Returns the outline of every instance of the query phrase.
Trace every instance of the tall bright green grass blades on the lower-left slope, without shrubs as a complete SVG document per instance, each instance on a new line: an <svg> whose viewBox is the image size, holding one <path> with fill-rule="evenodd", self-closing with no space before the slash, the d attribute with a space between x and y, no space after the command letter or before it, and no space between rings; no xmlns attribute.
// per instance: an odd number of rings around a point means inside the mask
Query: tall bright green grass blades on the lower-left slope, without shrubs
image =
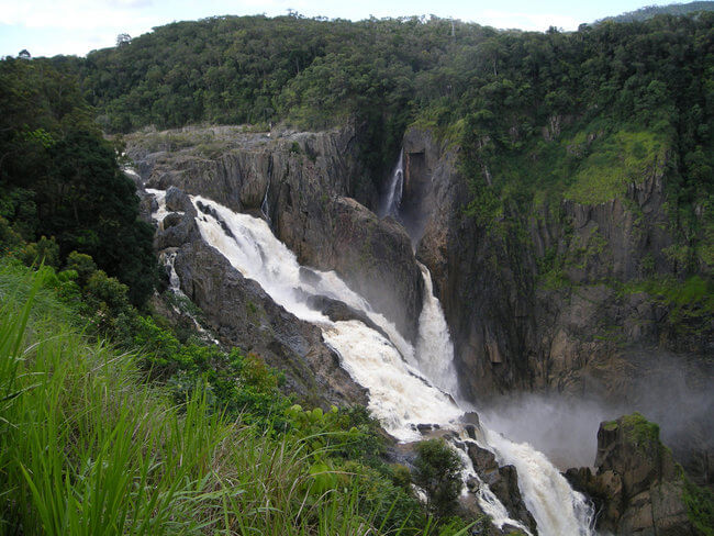
<svg viewBox="0 0 714 536"><path fill-rule="evenodd" d="M227 422L200 389L175 406L68 316L0 265L1 534L379 534L357 479L314 485L309 438Z"/></svg>

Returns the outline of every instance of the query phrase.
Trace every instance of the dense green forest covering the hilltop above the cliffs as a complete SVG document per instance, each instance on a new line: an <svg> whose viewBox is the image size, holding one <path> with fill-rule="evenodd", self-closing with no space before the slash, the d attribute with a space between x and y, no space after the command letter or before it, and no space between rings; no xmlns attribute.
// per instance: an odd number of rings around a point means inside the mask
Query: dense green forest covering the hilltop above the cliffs
<svg viewBox="0 0 714 536"><path fill-rule="evenodd" d="M405 127L431 127L461 148L481 222L548 200L623 197L665 161L670 253L685 276L714 264L713 21L701 12L537 33L438 18L220 16L32 64L76 78L110 133L354 120L378 188Z"/></svg>

